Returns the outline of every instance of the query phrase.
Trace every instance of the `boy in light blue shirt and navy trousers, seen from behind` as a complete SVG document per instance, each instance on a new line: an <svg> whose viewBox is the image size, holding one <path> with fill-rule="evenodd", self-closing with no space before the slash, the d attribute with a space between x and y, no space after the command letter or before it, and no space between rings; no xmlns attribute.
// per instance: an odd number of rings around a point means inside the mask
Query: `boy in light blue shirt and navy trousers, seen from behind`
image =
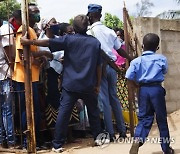
<svg viewBox="0 0 180 154"><path fill-rule="evenodd" d="M138 154L139 147L143 145L153 124L154 115L160 132L161 147L164 154L173 154L169 146L170 136L167 124L167 111L165 102L165 89L161 86L164 75L167 73L167 59L156 54L159 37L148 33L143 38L142 56L131 61L126 72L126 78L140 85L139 89L139 123L135 130L135 140L130 154Z"/></svg>

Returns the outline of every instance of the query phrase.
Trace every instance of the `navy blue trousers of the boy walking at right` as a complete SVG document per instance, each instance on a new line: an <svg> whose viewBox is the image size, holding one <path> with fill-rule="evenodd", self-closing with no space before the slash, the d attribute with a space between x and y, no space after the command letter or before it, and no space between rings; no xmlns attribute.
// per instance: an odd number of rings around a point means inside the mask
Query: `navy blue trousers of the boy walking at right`
<svg viewBox="0 0 180 154"><path fill-rule="evenodd" d="M169 148L169 129L165 102L165 89L161 85L141 86L139 92L139 123L135 130L135 138L143 143L153 124L154 115L160 132L163 152Z"/></svg>

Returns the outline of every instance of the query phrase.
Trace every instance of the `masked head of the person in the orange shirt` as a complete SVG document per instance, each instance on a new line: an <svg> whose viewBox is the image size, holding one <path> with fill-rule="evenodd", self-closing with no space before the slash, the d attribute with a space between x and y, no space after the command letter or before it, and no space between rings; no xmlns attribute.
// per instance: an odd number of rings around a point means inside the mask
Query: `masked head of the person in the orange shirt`
<svg viewBox="0 0 180 154"><path fill-rule="evenodd" d="M33 27L35 23L38 23L40 21L40 11L36 4L30 3L28 4L29 8L29 25L30 27Z"/></svg>

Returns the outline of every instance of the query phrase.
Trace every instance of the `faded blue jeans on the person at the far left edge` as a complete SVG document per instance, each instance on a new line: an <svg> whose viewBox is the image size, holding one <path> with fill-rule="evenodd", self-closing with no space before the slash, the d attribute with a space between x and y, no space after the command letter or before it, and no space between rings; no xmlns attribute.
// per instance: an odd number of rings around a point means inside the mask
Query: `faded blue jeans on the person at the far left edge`
<svg viewBox="0 0 180 154"><path fill-rule="evenodd" d="M0 144L15 143L13 122L13 93L10 91L10 80L0 81Z"/></svg>

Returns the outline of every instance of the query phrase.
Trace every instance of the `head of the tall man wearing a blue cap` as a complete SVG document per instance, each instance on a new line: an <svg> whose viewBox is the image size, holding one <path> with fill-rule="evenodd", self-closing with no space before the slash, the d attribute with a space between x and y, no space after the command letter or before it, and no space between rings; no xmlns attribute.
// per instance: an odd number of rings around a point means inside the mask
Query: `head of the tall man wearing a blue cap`
<svg viewBox="0 0 180 154"><path fill-rule="evenodd" d="M88 5L88 13L89 23L92 25L94 22L100 21L102 14L102 6L98 4L89 4Z"/></svg>

